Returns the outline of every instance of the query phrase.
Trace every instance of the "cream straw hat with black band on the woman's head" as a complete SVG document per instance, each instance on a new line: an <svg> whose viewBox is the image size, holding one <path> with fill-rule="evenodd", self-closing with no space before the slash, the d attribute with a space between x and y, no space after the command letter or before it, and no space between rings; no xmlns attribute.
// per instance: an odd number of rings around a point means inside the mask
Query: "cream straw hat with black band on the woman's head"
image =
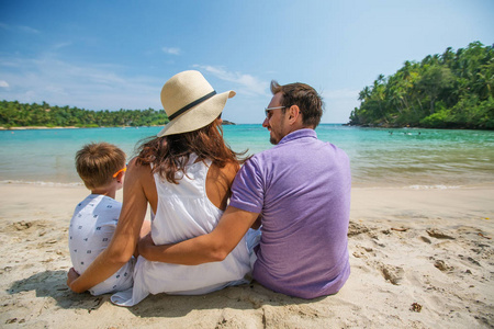
<svg viewBox="0 0 494 329"><path fill-rule="evenodd" d="M161 104L170 122L158 137L193 132L212 123L235 91L216 93L199 71L183 71L161 89Z"/></svg>

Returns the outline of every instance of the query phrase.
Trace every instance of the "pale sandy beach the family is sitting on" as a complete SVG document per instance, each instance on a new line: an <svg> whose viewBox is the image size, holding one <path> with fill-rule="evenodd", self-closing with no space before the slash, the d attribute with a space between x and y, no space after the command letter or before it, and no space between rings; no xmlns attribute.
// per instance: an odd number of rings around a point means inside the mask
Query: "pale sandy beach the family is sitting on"
<svg viewBox="0 0 494 329"><path fill-rule="evenodd" d="M252 282L150 296L132 308L65 284L68 224L87 194L83 186L0 184L0 327L494 327L494 184L352 189L351 275L336 295L305 300Z"/></svg>

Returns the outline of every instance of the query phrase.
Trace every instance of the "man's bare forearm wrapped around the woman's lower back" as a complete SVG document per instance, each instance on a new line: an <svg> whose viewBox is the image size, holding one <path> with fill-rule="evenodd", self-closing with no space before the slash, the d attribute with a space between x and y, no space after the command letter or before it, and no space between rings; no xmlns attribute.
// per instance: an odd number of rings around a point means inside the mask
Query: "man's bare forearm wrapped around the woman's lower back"
<svg viewBox="0 0 494 329"><path fill-rule="evenodd" d="M214 230L175 245L155 246L143 239L139 253L149 261L198 265L224 260L238 245L259 214L228 206Z"/></svg>

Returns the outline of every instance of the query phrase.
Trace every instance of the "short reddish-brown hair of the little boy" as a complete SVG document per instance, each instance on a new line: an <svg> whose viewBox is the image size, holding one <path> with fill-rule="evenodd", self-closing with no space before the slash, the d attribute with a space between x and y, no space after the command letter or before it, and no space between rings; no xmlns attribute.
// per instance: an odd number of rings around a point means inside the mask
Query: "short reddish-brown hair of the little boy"
<svg viewBox="0 0 494 329"><path fill-rule="evenodd" d="M76 169L89 190L111 183L125 167L125 152L110 143L90 143L76 154Z"/></svg>

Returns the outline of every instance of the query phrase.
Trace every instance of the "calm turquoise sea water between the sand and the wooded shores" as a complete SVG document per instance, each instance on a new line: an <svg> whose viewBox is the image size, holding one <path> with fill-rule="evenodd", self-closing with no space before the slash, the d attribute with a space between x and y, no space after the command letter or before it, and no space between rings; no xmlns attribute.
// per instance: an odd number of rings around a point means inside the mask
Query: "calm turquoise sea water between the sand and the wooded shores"
<svg viewBox="0 0 494 329"><path fill-rule="evenodd" d="M269 132L260 124L224 126L235 151L266 150ZM139 140L160 127L0 131L0 182L81 184L76 151L90 141L121 147L128 159ZM454 189L494 183L494 132L363 128L322 124L319 139L344 149L353 186Z"/></svg>

